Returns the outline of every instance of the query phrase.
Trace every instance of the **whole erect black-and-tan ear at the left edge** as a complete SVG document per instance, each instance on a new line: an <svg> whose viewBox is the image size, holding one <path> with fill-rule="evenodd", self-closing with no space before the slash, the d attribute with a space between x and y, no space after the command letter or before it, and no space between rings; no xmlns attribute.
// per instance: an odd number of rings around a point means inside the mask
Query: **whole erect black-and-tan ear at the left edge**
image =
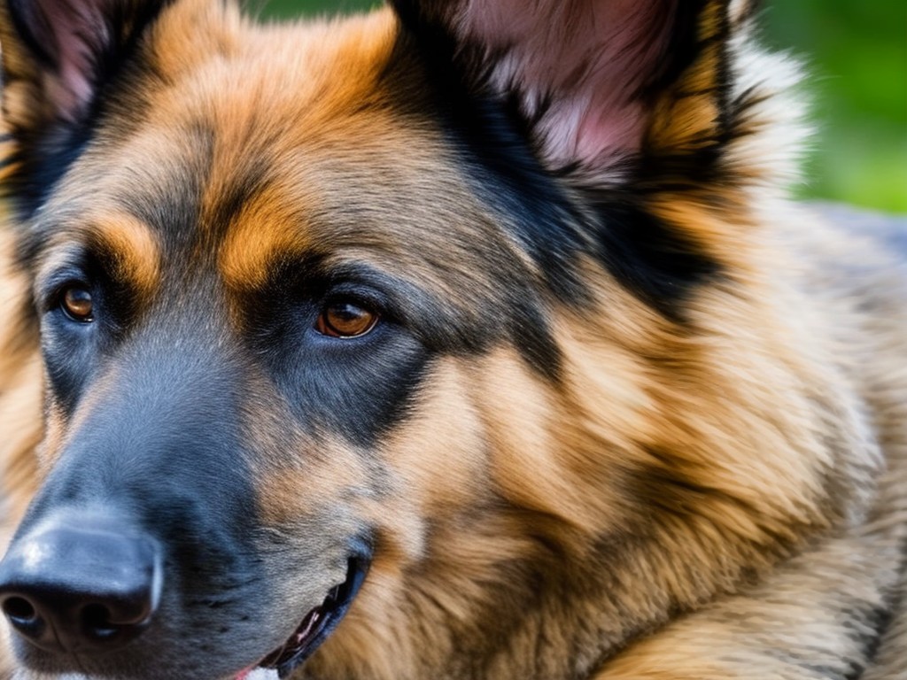
<svg viewBox="0 0 907 680"><path fill-rule="evenodd" d="M30 166L62 172L104 88L169 0L2 0L3 121L15 144L15 190ZM55 169L55 170L54 170ZM45 178L46 179L46 178Z"/></svg>

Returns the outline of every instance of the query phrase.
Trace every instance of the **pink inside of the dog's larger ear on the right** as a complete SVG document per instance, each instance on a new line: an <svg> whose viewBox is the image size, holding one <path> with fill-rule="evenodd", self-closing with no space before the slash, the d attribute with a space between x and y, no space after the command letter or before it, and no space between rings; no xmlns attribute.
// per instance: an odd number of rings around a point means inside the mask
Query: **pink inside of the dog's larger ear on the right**
<svg viewBox="0 0 907 680"><path fill-rule="evenodd" d="M678 0L466 0L456 30L478 40L493 87L520 94L554 166L586 167L639 150L636 97L658 70ZM547 108L545 108L547 107Z"/></svg>

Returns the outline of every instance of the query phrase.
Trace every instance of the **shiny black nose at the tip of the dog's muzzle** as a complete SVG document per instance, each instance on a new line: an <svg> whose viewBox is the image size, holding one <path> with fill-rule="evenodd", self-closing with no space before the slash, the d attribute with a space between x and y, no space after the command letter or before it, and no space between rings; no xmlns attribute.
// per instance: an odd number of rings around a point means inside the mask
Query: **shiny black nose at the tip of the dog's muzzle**
<svg viewBox="0 0 907 680"><path fill-rule="evenodd" d="M0 563L0 608L50 652L102 651L151 622L161 594L157 543L110 522L48 522Z"/></svg>

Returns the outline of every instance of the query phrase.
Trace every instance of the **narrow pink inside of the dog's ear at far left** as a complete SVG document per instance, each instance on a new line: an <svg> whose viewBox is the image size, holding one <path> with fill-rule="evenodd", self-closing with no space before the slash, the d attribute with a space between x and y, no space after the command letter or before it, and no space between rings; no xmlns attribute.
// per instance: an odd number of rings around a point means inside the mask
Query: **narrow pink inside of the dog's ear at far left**
<svg viewBox="0 0 907 680"><path fill-rule="evenodd" d="M95 60L112 40L103 5L105 0L39 0L47 33L36 36L52 42L58 62L57 73L48 73L44 85L63 120L78 120L92 101Z"/></svg>

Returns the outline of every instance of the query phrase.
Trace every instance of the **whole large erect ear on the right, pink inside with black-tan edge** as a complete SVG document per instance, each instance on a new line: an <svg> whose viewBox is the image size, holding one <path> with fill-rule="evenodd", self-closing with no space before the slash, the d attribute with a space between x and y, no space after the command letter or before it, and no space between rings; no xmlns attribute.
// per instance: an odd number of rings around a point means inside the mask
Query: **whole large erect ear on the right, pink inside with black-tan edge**
<svg viewBox="0 0 907 680"><path fill-rule="evenodd" d="M701 147L722 133L727 52L754 9L753 0L394 5L473 92L512 105L547 167L597 173L666 145Z"/></svg>

